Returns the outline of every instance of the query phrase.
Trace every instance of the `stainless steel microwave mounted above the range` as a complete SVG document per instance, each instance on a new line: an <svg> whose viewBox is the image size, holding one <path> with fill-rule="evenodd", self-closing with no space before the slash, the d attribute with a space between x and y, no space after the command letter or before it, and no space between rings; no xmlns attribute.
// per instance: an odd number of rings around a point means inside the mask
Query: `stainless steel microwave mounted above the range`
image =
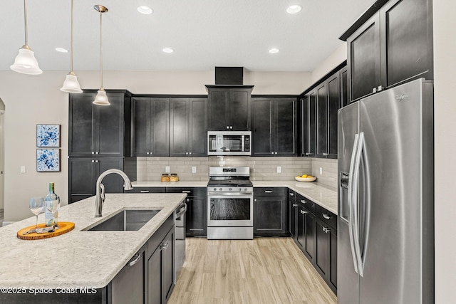
<svg viewBox="0 0 456 304"><path fill-rule="evenodd" d="M207 155L251 155L251 131L208 131Z"/></svg>

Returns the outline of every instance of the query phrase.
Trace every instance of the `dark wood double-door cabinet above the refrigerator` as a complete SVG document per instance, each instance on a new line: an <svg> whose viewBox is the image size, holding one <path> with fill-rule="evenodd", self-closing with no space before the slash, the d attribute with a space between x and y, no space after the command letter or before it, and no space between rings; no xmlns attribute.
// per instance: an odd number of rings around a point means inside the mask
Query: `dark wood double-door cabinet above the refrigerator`
<svg viewBox="0 0 456 304"><path fill-rule="evenodd" d="M415 78L433 79L432 0L377 0L341 40L348 46L352 101Z"/></svg>

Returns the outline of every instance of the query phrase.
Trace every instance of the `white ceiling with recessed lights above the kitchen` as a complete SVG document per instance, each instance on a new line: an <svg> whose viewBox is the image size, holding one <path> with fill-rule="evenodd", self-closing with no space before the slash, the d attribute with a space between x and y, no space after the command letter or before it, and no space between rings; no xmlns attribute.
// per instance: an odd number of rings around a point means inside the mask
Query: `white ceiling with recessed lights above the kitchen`
<svg viewBox="0 0 456 304"><path fill-rule="evenodd" d="M0 0L0 70L24 45L24 2ZM74 0L74 70L311 71L341 46L338 37L373 0ZM298 14L287 14L300 4ZM140 5L154 13L142 15ZM40 68L69 70L71 0L28 0L28 45ZM163 53L173 48L174 53ZM269 48L279 48L276 54Z"/></svg>

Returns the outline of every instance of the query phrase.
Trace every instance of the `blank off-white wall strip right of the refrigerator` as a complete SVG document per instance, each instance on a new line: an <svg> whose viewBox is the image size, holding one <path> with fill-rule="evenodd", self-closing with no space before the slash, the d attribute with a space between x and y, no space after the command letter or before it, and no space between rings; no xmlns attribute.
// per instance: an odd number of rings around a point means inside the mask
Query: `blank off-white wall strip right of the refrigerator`
<svg viewBox="0 0 456 304"><path fill-rule="evenodd" d="M456 2L433 0L435 68L435 303L456 286ZM451 300L453 299L453 300Z"/></svg>

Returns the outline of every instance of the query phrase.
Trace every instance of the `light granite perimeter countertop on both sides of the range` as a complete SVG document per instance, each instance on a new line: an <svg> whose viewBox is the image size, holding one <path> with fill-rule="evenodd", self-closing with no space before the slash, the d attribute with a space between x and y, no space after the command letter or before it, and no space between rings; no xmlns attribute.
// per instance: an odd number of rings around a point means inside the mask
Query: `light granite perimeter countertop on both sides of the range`
<svg viewBox="0 0 456 304"><path fill-rule="evenodd" d="M254 187L288 187L337 215L337 190L318 182L252 181ZM133 182L133 187L207 187L207 182Z"/></svg>

